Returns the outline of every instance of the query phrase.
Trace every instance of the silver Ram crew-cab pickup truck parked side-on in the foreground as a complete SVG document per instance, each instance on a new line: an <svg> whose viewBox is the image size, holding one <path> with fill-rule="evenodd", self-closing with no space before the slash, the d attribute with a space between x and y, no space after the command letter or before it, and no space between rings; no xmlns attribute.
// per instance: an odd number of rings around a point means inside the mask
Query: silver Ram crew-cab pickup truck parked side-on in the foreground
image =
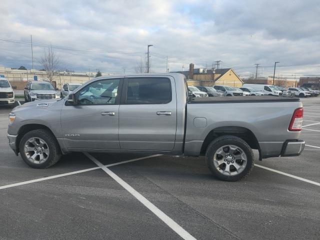
<svg viewBox="0 0 320 240"><path fill-rule="evenodd" d="M73 151L205 156L214 176L238 180L259 160L295 156L299 98L195 97L179 73L101 76L61 99L28 102L9 114L9 145L31 167Z"/></svg>

